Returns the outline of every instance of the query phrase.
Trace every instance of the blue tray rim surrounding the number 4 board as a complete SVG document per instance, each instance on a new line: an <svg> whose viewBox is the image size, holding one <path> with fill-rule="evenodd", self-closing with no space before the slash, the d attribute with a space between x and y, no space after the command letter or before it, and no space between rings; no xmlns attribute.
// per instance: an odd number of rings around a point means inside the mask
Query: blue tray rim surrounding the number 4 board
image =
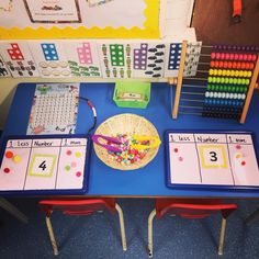
<svg viewBox="0 0 259 259"><path fill-rule="evenodd" d="M4 136L1 139L1 149L0 149L0 166L3 160L3 155L5 151L5 146L9 139L45 139L45 138L87 138L87 147L86 147L86 160L85 160L85 172L83 172L83 182L82 189L59 189L59 190L19 190L19 191L0 191L0 195L59 195L59 194L67 194L67 195L76 195L76 194L83 194L88 192L89 185L89 174L90 174L90 161L91 161L91 153L92 153L92 140L90 136L86 134L71 134L71 135L12 135L12 136Z"/></svg>

